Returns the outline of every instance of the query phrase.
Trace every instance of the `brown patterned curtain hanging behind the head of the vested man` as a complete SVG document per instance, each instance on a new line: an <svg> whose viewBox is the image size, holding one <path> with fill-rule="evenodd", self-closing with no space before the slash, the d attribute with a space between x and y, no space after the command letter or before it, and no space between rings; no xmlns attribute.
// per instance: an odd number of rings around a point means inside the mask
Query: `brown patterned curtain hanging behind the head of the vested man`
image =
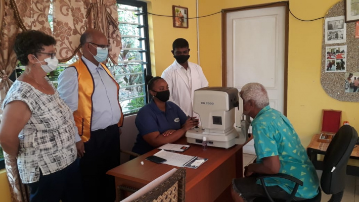
<svg viewBox="0 0 359 202"><path fill-rule="evenodd" d="M117 64L121 52L116 0L54 0L54 37L60 62L81 56L80 36L93 28L104 33L111 44L109 58Z"/></svg>

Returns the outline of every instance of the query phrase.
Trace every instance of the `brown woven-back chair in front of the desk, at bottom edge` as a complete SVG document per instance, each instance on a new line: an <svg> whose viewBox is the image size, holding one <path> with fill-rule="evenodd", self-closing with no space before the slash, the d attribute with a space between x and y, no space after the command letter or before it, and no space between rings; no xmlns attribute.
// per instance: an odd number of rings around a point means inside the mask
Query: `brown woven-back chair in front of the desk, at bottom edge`
<svg viewBox="0 0 359 202"><path fill-rule="evenodd" d="M150 185L150 184L148 184ZM146 186L148 186L146 185ZM143 187L143 188L146 188ZM179 168L172 175L170 175L163 182L160 182L158 185L152 184L155 188L146 192L144 195L136 199L130 199L125 201L131 202L157 202L157 201L185 201L185 192L186 192L186 169ZM122 201L124 197L124 192L136 192L137 189L127 187L127 186L118 186L117 193L119 199ZM141 190L140 190L141 191Z"/></svg>

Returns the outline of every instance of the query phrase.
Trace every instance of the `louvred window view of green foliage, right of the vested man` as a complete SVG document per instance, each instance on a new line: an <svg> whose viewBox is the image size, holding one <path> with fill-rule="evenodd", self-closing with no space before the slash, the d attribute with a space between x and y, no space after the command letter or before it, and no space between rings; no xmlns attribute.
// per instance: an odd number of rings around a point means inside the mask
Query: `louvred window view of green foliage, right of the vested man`
<svg viewBox="0 0 359 202"><path fill-rule="evenodd" d="M146 104L144 65L141 62L146 62L146 59L143 52L139 51L146 48L143 40L139 39L139 37L144 37L144 33L136 24L141 24L142 20L136 15L139 13L138 7L123 4L118 4L118 7L120 8L118 10L118 21L127 23L119 24L122 35L122 50L118 57L118 65L111 66L116 81L121 86L120 102L123 106L123 113L136 113Z"/></svg>

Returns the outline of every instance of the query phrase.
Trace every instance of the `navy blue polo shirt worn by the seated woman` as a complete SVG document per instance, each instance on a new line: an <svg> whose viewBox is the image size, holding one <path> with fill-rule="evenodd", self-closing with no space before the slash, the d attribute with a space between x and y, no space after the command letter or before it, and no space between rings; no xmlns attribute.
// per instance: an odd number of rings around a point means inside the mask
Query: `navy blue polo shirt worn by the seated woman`
<svg viewBox="0 0 359 202"><path fill-rule="evenodd" d="M139 130L136 143L132 148L134 153L143 155L155 147L147 143L143 136L158 131L162 134L166 130L178 130L186 123L187 116L176 104L166 102L166 112L158 109L153 100L142 107L136 117L136 127Z"/></svg>

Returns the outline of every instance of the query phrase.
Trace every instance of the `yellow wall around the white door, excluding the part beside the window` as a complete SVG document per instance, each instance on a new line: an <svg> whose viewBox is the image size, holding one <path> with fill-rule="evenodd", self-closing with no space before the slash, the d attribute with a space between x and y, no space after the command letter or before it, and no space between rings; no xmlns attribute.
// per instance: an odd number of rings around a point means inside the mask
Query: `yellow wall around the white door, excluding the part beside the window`
<svg viewBox="0 0 359 202"><path fill-rule="evenodd" d="M221 9L272 3L270 0L199 0L199 16ZM338 0L290 0L290 9L301 19L325 16ZM287 116L307 146L321 130L322 110L341 110L342 121L359 130L359 105L331 98L320 82L324 20L302 22L289 16L288 111ZM200 63L210 86L221 85L221 14L199 20ZM354 33L352 33L354 34Z"/></svg>

